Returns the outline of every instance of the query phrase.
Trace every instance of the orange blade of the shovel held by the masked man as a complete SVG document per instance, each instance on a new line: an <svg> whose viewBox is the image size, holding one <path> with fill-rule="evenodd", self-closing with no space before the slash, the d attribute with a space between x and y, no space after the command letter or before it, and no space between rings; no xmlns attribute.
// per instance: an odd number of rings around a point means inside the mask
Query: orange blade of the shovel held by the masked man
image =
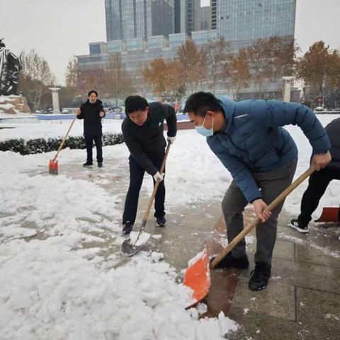
<svg viewBox="0 0 340 340"><path fill-rule="evenodd" d="M202 256L186 270L183 284L193 290L193 302L187 308L194 307L208 295L210 288L210 261L208 248L202 252Z"/></svg>

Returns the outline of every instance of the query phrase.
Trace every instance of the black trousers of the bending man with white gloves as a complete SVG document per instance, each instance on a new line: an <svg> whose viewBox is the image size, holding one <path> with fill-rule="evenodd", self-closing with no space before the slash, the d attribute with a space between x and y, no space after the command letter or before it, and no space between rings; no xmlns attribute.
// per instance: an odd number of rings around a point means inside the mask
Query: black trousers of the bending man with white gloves
<svg viewBox="0 0 340 340"><path fill-rule="evenodd" d="M164 153L160 154L158 157L151 159L154 166L157 169L161 169L162 162L164 158ZM138 198L140 197L140 188L143 183L143 178L145 174L145 169L138 164L133 157L130 156L129 159L130 165L130 186L128 190L128 194L125 199L125 208L123 212L123 224L126 222L135 223L136 215L137 215L137 206L138 206ZM154 184L156 182L154 181ZM164 200L165 200L165 185L164 180L159 183L159 187L154 198L154 217L164 217L165 208L164 208Z"/></svg>

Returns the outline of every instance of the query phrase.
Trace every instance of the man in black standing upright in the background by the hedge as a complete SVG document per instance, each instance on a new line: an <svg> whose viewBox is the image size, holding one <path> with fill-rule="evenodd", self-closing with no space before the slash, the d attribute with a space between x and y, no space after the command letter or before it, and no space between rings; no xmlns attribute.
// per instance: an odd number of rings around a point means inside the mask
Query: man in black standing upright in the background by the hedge
<svg viewBox="0 0 340 340"><path fill-rule="evenodd" d="M98 167L103 166L103 143L101 137L103 135L101 127L101 118L105 117L103 103L98 100L97 91L89 91L89 99L86 103L82 103L76 115L78 119L84 119L84 137L86 144L87 159L83 166L91 166L93 164L92 149L94 144L97 149Z"/></svg>

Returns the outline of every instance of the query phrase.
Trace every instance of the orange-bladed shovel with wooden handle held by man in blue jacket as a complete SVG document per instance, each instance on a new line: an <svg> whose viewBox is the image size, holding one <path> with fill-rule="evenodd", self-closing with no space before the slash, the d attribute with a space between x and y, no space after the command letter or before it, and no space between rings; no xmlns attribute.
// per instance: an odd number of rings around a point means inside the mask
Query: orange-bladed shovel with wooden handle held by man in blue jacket
<svg viewBox="0 0 340 340"><path fill-rule="evenodd" d="M288 188L280 193L280 195L273 200L273 202L268 205L268 211L272 211L276 208L297 186L299 186L305 179L307 179L313 172L315 171L315 166L312 165L310 169L305 171L296 181L294 181ZM244 237L246 237L249 232L251 232L256 225L260 222L259 218L256 218L251 224L247 225L242 232L240 232L237 237L235 237L232 242L230 242L225 249L221 251L219 255L212 259L210 262L209 254L208 254L208 247L206 246L203 250L201 256L198 256L197 261L191 261L189 264L188 269L186 270L186 274L184 276L183 284L188 286L193 290L193 300L191 305L187 308L194 307L198 304L198 302L202 301L206 295L209 293L210 288L210 268L213 269L217 266L222 259L227 256L229 251L232 251L234 246L236 246Z"/></svg>

